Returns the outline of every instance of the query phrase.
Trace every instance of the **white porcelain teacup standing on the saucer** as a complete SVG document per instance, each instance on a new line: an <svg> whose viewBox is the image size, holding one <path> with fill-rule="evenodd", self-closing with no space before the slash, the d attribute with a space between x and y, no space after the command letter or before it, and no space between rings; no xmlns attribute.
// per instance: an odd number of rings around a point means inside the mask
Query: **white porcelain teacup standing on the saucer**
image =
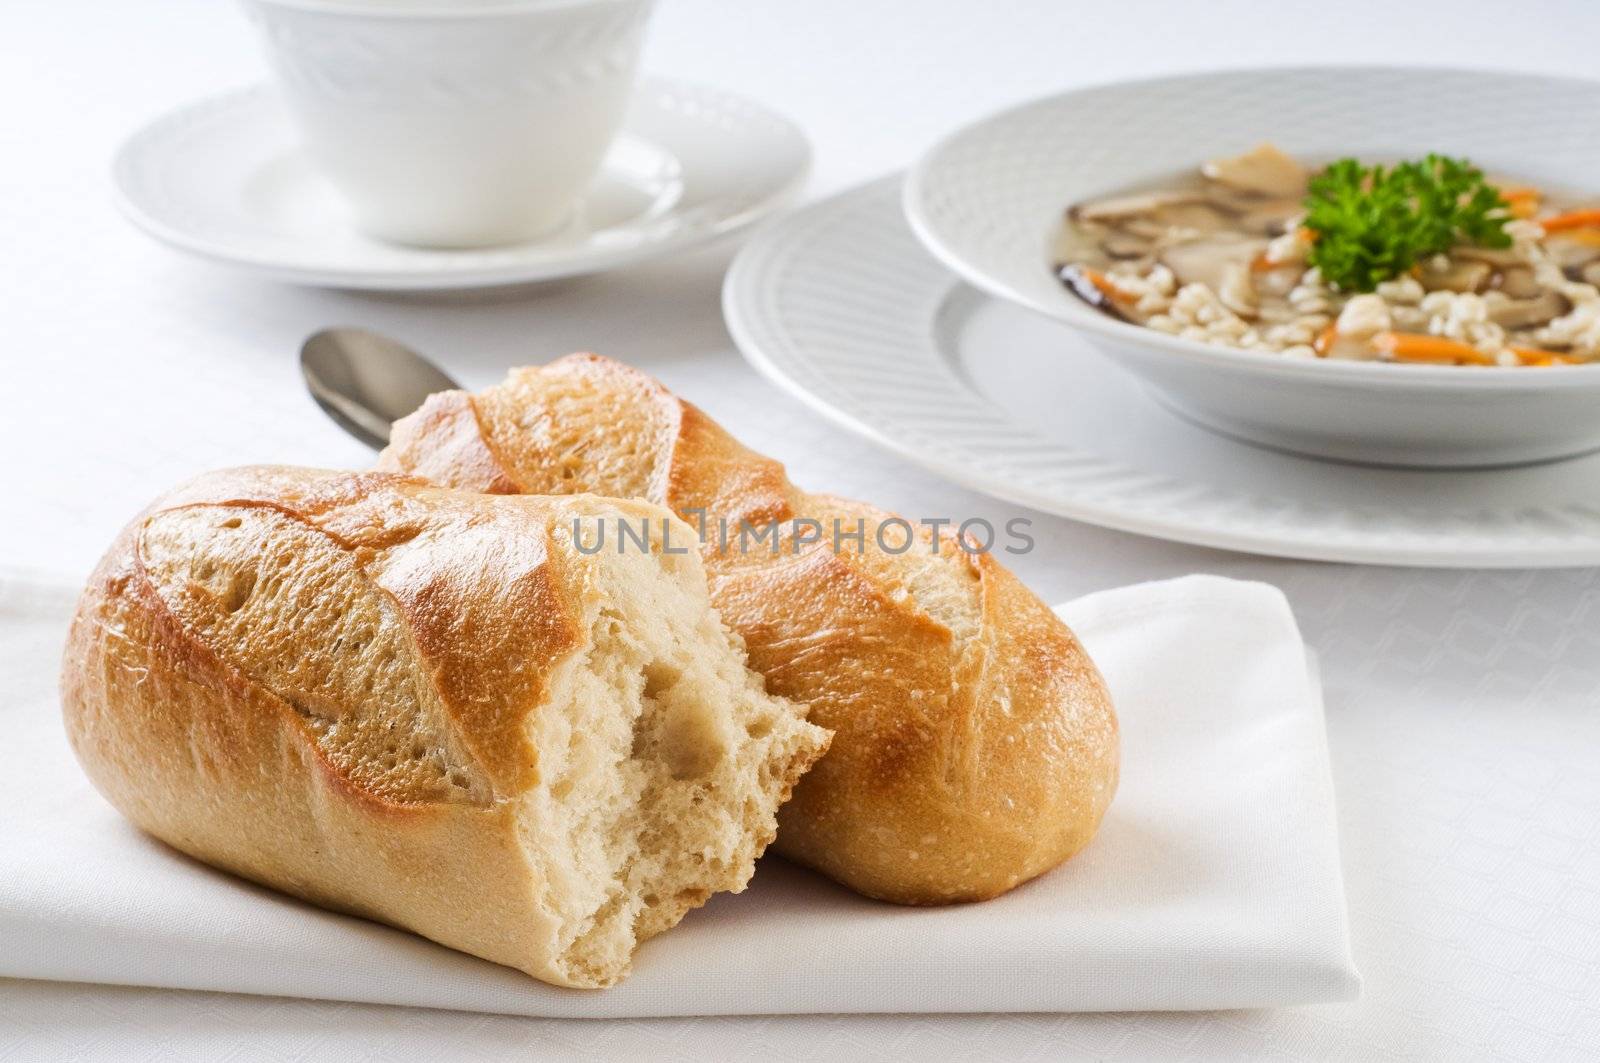
<svg viewBox="0 0 1600 1063"><path fill-rule="evenodd" d="M360 229L491 247L562 226L627 107L653 0L245 0Z"/></svg>

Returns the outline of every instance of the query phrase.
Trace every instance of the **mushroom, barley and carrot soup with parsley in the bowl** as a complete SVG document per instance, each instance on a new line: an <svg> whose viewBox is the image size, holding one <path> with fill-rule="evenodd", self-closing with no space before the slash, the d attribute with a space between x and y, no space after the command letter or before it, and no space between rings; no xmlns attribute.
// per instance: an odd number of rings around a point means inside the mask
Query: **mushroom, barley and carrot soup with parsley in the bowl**
<svg viewBox="0 0 1600 1063"><path fill-rule="evenodd" d="M1120 320L1280 357L1600 360L1600 200L1438 155L1314 168L1262 144L1070 207L1054 267Z"/></svg>

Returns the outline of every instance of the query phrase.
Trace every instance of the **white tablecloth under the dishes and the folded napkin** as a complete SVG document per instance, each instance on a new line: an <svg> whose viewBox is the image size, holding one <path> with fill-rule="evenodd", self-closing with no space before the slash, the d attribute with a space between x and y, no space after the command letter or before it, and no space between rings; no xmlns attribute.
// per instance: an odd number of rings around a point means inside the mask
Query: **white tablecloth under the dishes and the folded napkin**
<svg viewBox="0 0 1600 1063"><path fill-rule="evenodd" d="M254 80L216 0L14 3L0 35L0 562L82 573L174 479L366 453L299 394L293 351L347 322L467 384L592 347L686 392L813 488L920 515L1011 515L866 450L760 381L717 309L731 248L544 290L307 291L168 253L109 205L117 138ZM1307 61L1590 74L1571 3L664 0L646 69L776 106L816 142L808 194L909 162L998 104L1136 74ZM1448 115L1440 115L1448 122ZM1594 115L1573 115L1594 122ZM1187 160L1174 160L1179 165ZM1600 580L1246 559L1035 515L1016 565L1048 600L1195 570L1262 578L1325 669L1357 962L1352 1005L1222 1015L562 1023L0 983L0 1058L1600 1057ZM3 943L0 943L3 948Z"/></svg>

